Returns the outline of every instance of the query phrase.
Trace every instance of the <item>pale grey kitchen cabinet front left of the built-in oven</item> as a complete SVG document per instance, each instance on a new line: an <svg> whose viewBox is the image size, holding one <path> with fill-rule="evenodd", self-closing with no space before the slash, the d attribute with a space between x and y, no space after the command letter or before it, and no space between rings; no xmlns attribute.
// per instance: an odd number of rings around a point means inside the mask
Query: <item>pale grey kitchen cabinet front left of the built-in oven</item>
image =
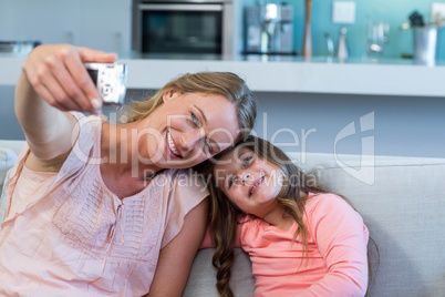
<svg viewBox="0 0 445 297"><path fill-rule="evenodd" d="M131 0L2 0L0 40L125 52L131 48Z"/></svg>

